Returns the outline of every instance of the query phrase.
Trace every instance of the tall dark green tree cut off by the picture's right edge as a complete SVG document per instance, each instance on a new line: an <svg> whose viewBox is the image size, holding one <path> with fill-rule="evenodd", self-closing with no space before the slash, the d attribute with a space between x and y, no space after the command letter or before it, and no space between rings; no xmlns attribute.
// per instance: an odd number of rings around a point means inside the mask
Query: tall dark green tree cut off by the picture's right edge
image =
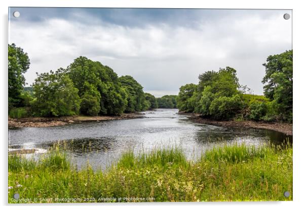
<svg viewBox="0 0 305 210"><path fill-rule="evenodd" d="M269 56L263 66L264 95L275 101L274 109L282 120L292 122L293 51Z"/></svg>

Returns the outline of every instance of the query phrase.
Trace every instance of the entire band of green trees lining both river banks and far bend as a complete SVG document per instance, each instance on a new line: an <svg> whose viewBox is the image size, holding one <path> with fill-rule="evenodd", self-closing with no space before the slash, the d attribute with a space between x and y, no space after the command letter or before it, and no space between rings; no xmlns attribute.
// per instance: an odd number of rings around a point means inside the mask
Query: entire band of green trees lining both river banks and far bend
<svg viewBox="0 0 305 210"><path fill-rule="evenodd" d="M265 96L245 94L236 70L226 67L200 74L199 83L181 86L178 96L156 98L144 93L133 77L118 77L110 67L82 56L66 69L37 75L32 87L24 88L28 56L15 44L8 47L11 117L121 115L178 108L217 120L292 122L292 50L269 56L263 64Z"/></svg>

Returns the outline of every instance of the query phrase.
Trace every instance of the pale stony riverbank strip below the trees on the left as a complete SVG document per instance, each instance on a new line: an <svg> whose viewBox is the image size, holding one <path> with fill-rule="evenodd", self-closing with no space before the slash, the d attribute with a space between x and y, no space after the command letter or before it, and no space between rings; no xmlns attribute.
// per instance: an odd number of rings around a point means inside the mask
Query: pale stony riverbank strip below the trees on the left
<svg viewBox="0 0 305 210"><path fill-rule="evenodd" d="M121 116L33 117L21 119L9 118L9 128L51 127L90 121L99 122L105 120L129 120L144 117L145 116L143 113L124 113Z"/></svg>

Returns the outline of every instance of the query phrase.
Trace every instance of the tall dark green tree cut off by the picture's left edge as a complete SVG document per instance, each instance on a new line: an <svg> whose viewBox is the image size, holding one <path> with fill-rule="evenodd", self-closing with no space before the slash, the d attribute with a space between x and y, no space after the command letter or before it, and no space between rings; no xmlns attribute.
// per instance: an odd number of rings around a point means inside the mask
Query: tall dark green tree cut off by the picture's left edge
<svg viewBox="0 0 305 210"><path fill-rule="evenodd" d="M14 43L8 45L8 93L9 110L13 107L23 106L20 95L25 85L24 73L29 68L30 61L27 53Z"/></svg>

